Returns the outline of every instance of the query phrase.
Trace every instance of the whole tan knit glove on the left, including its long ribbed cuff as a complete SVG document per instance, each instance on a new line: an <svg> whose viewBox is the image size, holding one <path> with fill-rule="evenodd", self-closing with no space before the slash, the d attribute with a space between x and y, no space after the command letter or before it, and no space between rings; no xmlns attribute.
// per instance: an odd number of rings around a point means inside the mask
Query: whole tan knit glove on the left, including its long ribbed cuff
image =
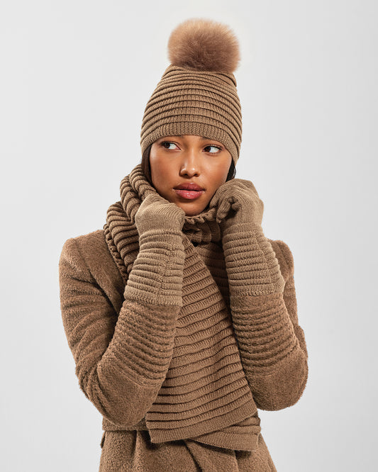
<svg viewBox="0 0 378 472"><path fill-rule="evenodd" d="M152 305L182 307L185 212L150 193L135 213L139 252L125 287L125 298Z"/></svg>

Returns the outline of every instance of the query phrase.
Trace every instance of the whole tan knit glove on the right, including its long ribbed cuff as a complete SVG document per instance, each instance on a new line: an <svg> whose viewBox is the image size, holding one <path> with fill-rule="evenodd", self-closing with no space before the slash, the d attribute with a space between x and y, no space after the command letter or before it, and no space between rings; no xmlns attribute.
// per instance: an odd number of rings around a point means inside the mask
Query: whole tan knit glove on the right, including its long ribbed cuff
<svg viewBox="0 0 378 472"><path fill-rule="evenodd" d="M262 231L264 203L252 182L225 182L214 193L213 203L218 205L230 295L235 299L283 292L278 260Z"/></svg>

